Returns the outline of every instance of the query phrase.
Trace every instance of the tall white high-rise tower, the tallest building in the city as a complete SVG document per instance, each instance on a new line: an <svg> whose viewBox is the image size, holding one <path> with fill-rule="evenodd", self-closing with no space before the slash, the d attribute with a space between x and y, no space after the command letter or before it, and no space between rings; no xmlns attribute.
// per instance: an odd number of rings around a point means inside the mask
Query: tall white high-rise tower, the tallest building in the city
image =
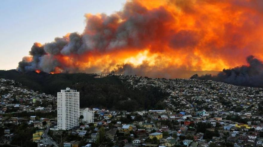
<svg viewBox="0 0 263 147"><path fill-rule="evenodd" d="M57 126L68 130L79 126L79 92L66 88L57 93Z"/></svg>

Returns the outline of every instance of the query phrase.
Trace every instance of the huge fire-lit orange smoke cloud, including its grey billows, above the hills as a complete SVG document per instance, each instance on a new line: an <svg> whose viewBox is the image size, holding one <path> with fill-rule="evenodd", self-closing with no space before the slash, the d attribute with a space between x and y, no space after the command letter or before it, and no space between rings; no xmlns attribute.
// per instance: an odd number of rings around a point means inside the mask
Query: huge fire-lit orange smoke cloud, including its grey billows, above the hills
<svg viewBox="0 0 263 147"><path fill-rule="evenodd" d="M263 60L262 0L134 0L85 18L82 34L35 43L18 71L189 78L246 65L249 55Z"/></svg>

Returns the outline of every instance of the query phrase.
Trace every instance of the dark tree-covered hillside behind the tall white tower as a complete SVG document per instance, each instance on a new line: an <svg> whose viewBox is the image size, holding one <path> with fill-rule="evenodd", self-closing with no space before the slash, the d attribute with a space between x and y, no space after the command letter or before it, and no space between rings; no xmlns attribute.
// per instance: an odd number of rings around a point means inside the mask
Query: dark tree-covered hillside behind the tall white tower
<svg viewBox="0 0 263 147"><path fill-rule="evenodd" d="M101 107L118 110L163 108L159 103L168 94L158 88L128 88L117 76L94 78L85 73L48 74L41 72L19 73L16 70L0 70L0 78L15 80L34 90L52 94L70 87L80 92L80 107Z"/></svg>

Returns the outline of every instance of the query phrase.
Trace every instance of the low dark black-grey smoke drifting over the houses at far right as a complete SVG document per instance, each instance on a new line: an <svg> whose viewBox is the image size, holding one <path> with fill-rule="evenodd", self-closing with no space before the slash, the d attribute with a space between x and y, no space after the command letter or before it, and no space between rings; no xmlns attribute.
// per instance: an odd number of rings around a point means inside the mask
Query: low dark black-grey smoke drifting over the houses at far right
<svg viewBox="0 0 263 147"><path fill-rule="evenodd" d="M247 57L249 65L242 65L232 69L223 69L218 75L193 75L191 78L214 80L242 86L263 86L263 63L254 56Z"/></svg>

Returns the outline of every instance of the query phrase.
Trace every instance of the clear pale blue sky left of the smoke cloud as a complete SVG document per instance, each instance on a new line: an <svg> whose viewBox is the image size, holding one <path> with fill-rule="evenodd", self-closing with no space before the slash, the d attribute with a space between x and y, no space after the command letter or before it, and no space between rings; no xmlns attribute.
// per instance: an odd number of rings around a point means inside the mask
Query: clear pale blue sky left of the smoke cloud
<svg viewBox="0 0 263 147"><path fill-rule="evenodd" d="M0 5L0 69L16 69L34 42L52 42L55 37L85 28L85 13L110 15L122 9L125 0L3 0Z"/></svg>

